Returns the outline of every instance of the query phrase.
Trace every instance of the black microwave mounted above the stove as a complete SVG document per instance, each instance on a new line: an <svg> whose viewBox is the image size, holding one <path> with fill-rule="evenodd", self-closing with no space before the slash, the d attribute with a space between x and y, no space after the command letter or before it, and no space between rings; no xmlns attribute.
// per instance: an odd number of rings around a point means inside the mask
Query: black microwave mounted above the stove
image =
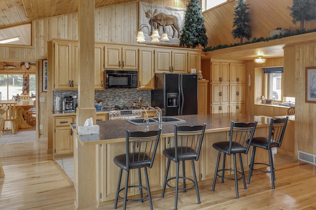
<svg viewBox="0 0 316 210"><path fill-rule="evenodd" d="M106 88L137 88L137 70L105 70Z"/></svg>

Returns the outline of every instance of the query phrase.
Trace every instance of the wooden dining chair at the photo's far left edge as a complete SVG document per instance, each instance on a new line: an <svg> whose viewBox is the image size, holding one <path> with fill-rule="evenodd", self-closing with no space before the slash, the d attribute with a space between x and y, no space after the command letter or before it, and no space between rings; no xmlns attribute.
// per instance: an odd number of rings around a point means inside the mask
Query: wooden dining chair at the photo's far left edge
<svg viewBox="0 0 316 210"><path fill-rule="evenodd" d="M2 131L12 131L15 134L19 130L18 119L16 115L16 102L1 102L0 107L3 105L7 106L7 110L4 113L4 122L2 126ZM11 122L11 128L5 126L5 122Z"/></svg>

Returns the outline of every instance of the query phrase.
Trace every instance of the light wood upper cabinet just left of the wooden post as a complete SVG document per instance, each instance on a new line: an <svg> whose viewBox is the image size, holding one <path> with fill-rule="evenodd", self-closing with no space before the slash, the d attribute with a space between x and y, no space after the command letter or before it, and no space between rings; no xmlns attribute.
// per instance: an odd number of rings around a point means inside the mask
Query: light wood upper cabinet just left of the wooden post
<svg viewBox="0 0 316 210"><path fill-rule="evenodd" d="M53 49L53 88L55 90L78 89L78 43L53 41Z"/></svg>

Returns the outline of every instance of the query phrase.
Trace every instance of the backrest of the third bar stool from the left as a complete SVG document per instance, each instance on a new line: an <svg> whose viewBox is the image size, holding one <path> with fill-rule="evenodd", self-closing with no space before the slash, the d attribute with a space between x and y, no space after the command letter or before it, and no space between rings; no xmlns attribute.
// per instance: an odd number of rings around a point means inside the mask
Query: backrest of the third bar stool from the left
<svg viewBox="0 0 316 210"><path fill-rule="evenodd" d="M250 148L257 122L231 121L230 144L228 155L234 153L247 154Z"/></svg>

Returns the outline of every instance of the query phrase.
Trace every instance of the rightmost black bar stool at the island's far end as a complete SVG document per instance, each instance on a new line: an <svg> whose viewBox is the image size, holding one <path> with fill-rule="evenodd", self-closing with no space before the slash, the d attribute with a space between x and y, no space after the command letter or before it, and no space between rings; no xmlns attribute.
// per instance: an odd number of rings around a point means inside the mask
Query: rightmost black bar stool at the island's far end
<svg viewBox="0 0 316 210"><path fill-rule="evenodd" d="M275 189L275 180L276 180L276 175L275 175L275 167L273 164L273 157L272 157L272 148L273 147L280 147L286 124L287 124L287 119L288 116L282 119L271 119L270 121L270 130L269 130L269 137L255 137L252 139L250 145L253 146L252 150L252 157L251 157L251 163L249 165L249 175L248 175L248 182L247 184L250 183L250 178L252 176L253 171L256 172L262 172L262 173L271 173L271 182L272 182L272 189ZM266 163L255 163L255 155L256 155L256 148L263 148L269 151L269 162L270 164ZM263 166L270 166L270 170L259 170L259 169L254 169L254 165L263 165Z"/></svg>

